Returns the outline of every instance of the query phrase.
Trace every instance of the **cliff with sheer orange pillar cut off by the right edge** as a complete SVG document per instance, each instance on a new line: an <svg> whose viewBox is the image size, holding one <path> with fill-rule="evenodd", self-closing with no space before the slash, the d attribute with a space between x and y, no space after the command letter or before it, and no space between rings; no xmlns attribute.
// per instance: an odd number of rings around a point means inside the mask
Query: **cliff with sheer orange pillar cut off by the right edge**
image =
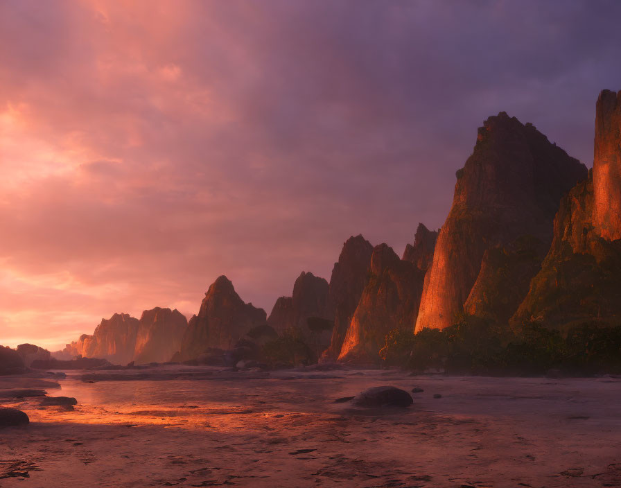
<svg viewBox="0 0 621 488"><path fill-rule="evenodd" d="M621 320L620 96L604 90L597 100L593 171L561 201L552 246L514 327Z"/></svg>

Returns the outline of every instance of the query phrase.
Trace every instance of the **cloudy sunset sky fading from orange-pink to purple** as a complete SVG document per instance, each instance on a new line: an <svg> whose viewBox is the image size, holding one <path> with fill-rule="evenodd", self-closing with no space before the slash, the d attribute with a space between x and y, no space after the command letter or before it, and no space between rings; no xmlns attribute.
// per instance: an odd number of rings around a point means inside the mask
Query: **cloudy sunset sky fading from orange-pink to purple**
<svg viewBox="0 0 621 488"><path fill-rule="evenodd" d="M362 234L442 225L504 110L587 166L621 2L0 0L0 344L270 312Z"/></svg>

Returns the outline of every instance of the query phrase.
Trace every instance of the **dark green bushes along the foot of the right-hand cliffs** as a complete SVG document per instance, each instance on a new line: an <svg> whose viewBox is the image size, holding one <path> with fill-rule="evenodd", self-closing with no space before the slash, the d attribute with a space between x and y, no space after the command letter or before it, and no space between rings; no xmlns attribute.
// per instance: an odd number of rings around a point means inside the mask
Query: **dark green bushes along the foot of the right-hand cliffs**
<svg viewBox="0 0 621 488"><path fill-rule="evenodd" d="M461 315L446 329L394 330L380 351L387 366L450 374L536 375L621 372L621 325L583 322L565 333L536 322L510 331L478 317Z"/></svg>

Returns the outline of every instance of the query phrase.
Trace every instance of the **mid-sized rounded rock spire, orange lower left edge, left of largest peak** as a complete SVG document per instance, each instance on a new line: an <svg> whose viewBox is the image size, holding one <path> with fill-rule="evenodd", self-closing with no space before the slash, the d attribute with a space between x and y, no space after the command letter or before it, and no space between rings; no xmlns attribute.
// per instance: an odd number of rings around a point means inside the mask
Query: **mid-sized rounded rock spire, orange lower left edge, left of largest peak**
<svg viewBox="0 0 621 488"><path fill-rule="evenodd" d="M378 361L386 334L412 329L419 311L424 272L403 261L386 244L371 256L369 277L347 329L338 360L356 363Z"/></svg>

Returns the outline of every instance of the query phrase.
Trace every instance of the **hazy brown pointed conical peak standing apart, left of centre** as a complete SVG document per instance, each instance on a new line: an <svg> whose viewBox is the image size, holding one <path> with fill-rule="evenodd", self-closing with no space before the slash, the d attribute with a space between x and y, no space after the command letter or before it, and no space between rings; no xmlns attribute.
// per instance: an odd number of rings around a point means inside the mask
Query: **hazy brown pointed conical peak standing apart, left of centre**
<svg viewBox="0 0 621 488"><path fill-rule="evenodd" d="M190 319L175 360L198 358L211 349L231 349L248 331L266 323L263 308L246 304L227 277L209 286L198 315Z"/></svg>

